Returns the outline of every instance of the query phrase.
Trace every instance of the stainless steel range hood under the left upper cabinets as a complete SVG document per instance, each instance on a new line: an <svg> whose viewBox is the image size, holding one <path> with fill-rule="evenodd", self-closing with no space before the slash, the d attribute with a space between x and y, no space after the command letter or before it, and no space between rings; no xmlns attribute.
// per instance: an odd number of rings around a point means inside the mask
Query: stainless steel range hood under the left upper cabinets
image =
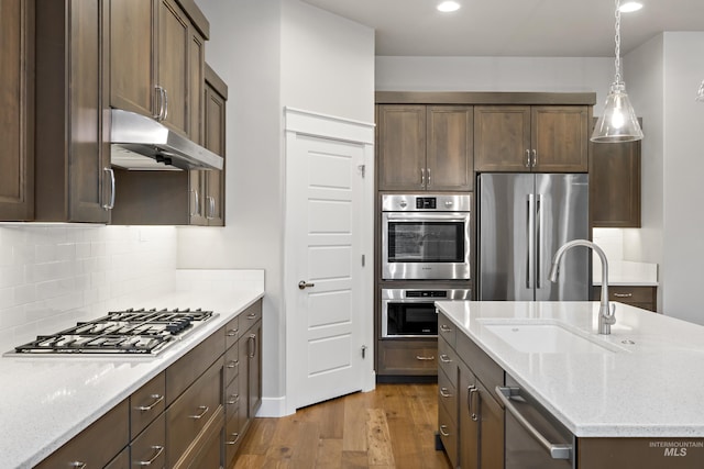
<svg viewBox="0 0 704 469"><path fill-rule="evenodd" d="M155 120L111 110L110 161L133 170L222 169L221 156Z"/></svg>

